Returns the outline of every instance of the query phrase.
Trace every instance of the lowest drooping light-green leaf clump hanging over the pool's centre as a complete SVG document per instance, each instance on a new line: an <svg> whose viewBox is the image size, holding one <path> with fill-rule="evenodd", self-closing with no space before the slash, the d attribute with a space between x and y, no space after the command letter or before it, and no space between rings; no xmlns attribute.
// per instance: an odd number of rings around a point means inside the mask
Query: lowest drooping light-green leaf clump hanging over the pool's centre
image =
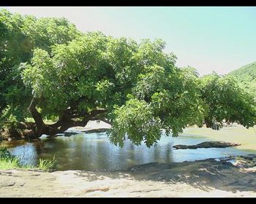
<svg viewBox="0 0 256 204"><path fill-rule="evenodd" d="M161 120L154 117L154 111L146 101L130 99L113 112L113 118L109 137L113 144L123 146L126 134L136 145L144 141L146 146L151 146L161 138Z"/></svg>

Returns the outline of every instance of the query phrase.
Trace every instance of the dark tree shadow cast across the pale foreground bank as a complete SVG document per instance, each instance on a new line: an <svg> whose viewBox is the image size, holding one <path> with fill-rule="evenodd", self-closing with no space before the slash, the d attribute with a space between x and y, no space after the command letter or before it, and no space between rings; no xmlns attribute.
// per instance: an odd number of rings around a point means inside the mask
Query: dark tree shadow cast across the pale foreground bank
<svg viewBox="0 0 256 204"><path fill-rule="evenodd" d="M128 178L136 181L161 181L165 184L188 184L209 192L211 189L229 192L256 192L256 168L238 167L227 161L214 159L195 162L148 163L136 165L127 171L86 172L87 181L107 178ZM83 176L79 171L77 176Z"/></svg>

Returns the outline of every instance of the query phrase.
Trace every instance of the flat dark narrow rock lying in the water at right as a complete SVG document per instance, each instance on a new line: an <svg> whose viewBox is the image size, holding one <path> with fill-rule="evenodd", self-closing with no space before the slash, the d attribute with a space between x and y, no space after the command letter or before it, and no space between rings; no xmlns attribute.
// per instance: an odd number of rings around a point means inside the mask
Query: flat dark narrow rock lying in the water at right
<svg viewBox="0 0 256 204"><path fill-rule="evenodd" d="M229 143L229 142L225 142L225 141L204 141L200 144L196 144L196 145L183 145L183 144L178 144L173 146L173 148L176 149L197 149L197 148L224 148L224 147L228 147L228 146L238 146L241 144L237 144L237 143Z"/></svg>

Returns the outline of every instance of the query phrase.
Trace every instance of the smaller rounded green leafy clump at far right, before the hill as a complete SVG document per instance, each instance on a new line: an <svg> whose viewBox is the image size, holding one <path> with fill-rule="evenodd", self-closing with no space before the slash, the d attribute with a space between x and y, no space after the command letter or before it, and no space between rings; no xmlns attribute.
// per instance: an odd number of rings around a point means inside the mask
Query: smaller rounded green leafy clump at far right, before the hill
<svg viewBox="0 0 256 204"><path fill-rule="evenodd" d="M231 76L214 73L204 76L202 98L208 106L206 122L222 120L239 122L245 127L255 125L256 106L252 95L238 86Z"/></svg>

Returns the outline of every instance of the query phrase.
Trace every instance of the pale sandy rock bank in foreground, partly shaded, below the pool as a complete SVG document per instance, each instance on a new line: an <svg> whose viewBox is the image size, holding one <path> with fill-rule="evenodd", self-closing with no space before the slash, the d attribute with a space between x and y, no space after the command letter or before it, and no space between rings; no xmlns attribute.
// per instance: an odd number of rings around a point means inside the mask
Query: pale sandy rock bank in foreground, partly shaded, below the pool
<svg viewBox="0 0 256 204"><path fill-rule="evenodd" d="M225 158L112 172L1 170L0 197L256 197L255 159L240 159L234 165Z"/></svg>

